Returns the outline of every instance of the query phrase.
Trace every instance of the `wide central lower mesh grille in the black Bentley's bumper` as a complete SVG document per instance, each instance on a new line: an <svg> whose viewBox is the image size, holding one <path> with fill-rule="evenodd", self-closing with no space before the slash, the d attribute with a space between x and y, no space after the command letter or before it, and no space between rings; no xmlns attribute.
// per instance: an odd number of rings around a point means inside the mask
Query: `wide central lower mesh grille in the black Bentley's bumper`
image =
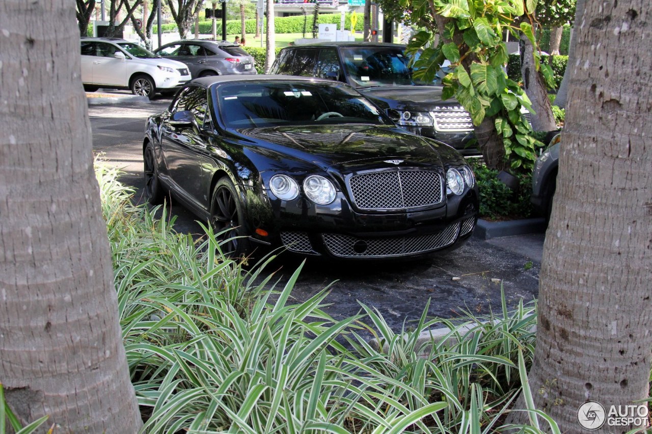
<svg viewBox="0 0 652 434"><path fill-rule="evenodd" d="M350 235L325 233L326 248L339 257L387 257L429 252L452 244L457 239L460 223L439 233L412 237L357 238Z"/></svg>

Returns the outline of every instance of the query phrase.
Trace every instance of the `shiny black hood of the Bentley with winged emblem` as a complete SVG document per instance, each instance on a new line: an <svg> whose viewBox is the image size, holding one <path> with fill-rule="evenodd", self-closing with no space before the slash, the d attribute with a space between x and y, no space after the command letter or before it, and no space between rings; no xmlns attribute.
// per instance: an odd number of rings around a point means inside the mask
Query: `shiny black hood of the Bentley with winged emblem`
<svg viewBox="0 0 652 434"><path fill-rule="evenodd" d="M276 126L235 132L253 140L254 147L340 173L383 167L441 167L451 159L463 161L448 145L391 126Z"/></svg>

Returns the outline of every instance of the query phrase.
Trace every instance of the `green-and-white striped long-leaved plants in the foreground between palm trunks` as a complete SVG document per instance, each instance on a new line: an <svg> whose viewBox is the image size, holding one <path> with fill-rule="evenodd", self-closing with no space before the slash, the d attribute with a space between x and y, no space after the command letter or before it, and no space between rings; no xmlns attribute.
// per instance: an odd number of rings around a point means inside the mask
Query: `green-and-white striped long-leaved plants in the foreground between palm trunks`
<svg viewBox="0 0 652 434"><path fill-rule="evenodd" d="M534 305L509 312L503 296L496 314L460 324L428 319L426 303L399 332L364 305L364 315L335 320L321 310L325 290L291 301L301 267L276 289L265 272L273 257L244 270L209 228L198 241L176 233L166 209L132 205L115 169L96 165L96 174L141 432L514 428L501 424L531 365ZM439 323L447 338L419 344Z"/></svg>

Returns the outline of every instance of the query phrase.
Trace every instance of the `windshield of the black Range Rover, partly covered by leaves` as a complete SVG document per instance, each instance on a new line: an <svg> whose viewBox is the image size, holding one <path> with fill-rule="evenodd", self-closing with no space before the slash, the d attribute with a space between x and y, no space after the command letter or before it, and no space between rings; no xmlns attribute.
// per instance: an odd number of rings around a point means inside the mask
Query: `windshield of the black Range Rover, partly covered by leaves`
<svg viewBox="0 0 652 434"><path fill-rule="evenodd" d="M419 59L417 53L417 59ZM409 68L409 57L401 47L352 47L342 48L344 68L356 86L402 86L441 84L445 74L433 83L415 80Z"/></svg>

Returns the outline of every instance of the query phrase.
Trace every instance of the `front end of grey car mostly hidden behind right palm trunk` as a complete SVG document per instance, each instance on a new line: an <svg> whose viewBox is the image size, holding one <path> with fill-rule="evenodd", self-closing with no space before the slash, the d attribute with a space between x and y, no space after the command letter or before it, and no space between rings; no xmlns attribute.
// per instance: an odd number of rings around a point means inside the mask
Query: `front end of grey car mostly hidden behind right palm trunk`
<svg viewBox="0 0 652 434"><path fill-rule="evenodd" d="M561 134L557 133L550 146L543 151L534 166L532 174L532 196L530 198L534 207L550 220L552 199L557 190L557 171L559 170L559 143Z"/></svg>

